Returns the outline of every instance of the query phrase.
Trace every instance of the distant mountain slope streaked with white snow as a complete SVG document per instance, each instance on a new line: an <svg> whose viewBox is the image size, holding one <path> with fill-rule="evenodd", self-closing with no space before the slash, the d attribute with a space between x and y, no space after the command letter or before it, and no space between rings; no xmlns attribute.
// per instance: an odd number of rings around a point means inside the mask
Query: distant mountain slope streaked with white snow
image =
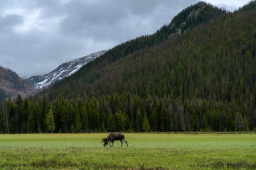
<svg viewBox="0 0 256 170"><path fill-rule="evenodd" d="M61 79L65 77L69 77L70 75L77 72L82 66L95 60L95 58L103 55L107 50L102 50L99 52L94 52L85 57L80 57L78 59L71 60L69 62L65 62L61 64L57 69L54 69L52 72L43 75L43 76L33 76L26 79L28 83L33 84L36 89L46 89L48 86L57 83Z"/></svg>

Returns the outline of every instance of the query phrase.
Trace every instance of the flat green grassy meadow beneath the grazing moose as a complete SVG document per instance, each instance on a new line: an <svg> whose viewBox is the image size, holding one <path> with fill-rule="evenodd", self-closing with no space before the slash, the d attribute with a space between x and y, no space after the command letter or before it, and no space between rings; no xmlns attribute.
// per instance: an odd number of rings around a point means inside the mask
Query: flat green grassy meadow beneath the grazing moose
<svg viewBox="0 0 256 170"><path fill-rule="evenodd" d="M256 169L256 134L0 135L0 169Z"/></svg>

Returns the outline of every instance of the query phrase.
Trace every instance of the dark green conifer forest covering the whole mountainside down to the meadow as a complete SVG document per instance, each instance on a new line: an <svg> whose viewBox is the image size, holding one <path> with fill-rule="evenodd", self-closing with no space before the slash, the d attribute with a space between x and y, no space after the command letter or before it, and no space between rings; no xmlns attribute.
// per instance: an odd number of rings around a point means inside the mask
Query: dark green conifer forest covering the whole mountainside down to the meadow
<svg viewBox="0 0 256 170"><path fill-rule="evenodd" d="M37 96L2 102L0 132L256 130L255 4L184 9Z"/></svg>

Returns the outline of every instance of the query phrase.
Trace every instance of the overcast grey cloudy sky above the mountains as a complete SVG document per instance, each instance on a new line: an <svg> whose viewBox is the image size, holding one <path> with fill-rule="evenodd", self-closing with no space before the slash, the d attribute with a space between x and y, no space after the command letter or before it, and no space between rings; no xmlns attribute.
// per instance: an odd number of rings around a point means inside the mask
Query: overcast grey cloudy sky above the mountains
<svg viewBox="0 0 256 170"><path fill-rule="evenodd" d="M208 0L234 11L249 0ZM197 0L1 0L0 65L21 77L154 33Z"/></svg>

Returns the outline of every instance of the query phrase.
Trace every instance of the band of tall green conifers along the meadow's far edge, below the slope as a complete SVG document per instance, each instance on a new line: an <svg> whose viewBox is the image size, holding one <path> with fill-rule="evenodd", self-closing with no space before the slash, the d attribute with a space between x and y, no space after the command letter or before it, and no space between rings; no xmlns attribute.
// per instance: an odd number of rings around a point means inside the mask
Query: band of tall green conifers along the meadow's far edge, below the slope
<svg viewBox="0 0 256 170"><path fill-rule="evenodd" d="M63 96L49 102L17 96L1 103L1 133L184 132L255 130L250 111L232 101L178 100L170 96L117 94L100 98ZM254 112L254 110L252 111Z"/></svg>

